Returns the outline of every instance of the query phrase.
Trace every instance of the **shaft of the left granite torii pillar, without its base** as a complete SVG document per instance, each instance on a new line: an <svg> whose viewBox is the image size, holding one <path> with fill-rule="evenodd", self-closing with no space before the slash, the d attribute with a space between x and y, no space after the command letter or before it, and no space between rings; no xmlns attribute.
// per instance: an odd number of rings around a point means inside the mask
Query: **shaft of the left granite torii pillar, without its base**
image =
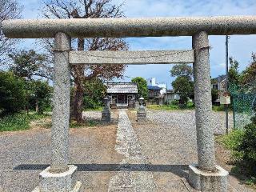
<svg viewBox="0 0 256 192"><path fill-rule="evenodd" d="M67 170L70 126L70 37L55 35L54 42L54 110L51 129L51 172Z"/></svg>

